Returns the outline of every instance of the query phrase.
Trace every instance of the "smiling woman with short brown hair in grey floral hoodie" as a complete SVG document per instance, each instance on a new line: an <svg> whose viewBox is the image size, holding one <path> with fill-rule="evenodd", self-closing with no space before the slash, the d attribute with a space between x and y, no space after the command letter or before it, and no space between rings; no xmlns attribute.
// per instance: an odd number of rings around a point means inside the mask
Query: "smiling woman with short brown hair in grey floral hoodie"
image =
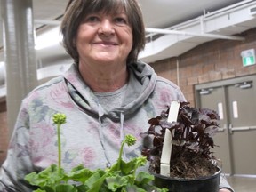
<svg viewBox="0 0 256 192"><path fill-rule="evenodd" d="M62 166L68 171L82 163L96 169L116 162L128 133L138 141L124 156L140 156L140 132L148 129L148 119L172 100L185 100L179 87L137 60L145 29L136 0L69 1L60 29L74 64L22 101L1 191L31 191L24 176L56 164L52 115L57 112L67 115L61 128Z"/></svg>

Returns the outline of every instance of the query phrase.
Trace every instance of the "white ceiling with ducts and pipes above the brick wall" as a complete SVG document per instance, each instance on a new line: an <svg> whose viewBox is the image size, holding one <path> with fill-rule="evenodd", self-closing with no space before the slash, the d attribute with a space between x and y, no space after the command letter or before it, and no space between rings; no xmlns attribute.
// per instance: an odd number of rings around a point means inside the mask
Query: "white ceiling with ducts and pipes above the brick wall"
<svg viewBox="0 0 256 192"><path fill-rule="evenodd" d="M61 18L67 2L33 0L36 36L44 28L58 26L51 21ZM256 7L256 0L139 0L139 3L149 40L140 60L147 62L179 56L214 39L241 41L239 33L256 27L256 15L249 12ZM2 30L0 25L0 63L4 61ZM71 62L60 44L36 50L36 57L38 68ZM4 84L3 70L0 64L0 88Z"/></svg>

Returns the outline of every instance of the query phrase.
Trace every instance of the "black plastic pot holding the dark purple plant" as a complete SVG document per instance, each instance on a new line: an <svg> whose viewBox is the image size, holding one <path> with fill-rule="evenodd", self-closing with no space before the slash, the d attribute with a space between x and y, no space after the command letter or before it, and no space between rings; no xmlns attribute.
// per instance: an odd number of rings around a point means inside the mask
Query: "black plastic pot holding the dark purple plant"
<svg viewBox="0 0 256 192"><path fill-rule="evenodd" d="M220 172L209 177L196 179L170 178L153 173L158 188L168 188L170 192L219 192Z"/></svg>

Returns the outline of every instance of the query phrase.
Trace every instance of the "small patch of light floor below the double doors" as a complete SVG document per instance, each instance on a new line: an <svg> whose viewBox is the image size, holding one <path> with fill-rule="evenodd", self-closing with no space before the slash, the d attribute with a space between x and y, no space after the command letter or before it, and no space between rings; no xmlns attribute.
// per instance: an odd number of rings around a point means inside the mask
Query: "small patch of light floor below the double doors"
<svg viewBox="0 0 256 192"><path fill-rule="evenodd" d="M230 176L227 180L235 192L256 192L256 178Z"/></svg>

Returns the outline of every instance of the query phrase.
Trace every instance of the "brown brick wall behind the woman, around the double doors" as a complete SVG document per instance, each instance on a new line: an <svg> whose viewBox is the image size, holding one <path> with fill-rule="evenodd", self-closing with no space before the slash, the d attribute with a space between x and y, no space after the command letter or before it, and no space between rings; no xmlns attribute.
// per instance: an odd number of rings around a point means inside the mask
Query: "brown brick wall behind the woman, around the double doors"
<svg viewBox="0 0 256 192"><path fill-rule="evenodd" d="M194 85L234 78L237 76L256 75L256 65L243 67L241 52L256 50L256 28L240 34L244 41L214 40L196 46L178 58L159 60L150 65L159 76L179 84L191 106L195 106ZM177 69L177 66L179 68ZM3 108L2 106L0 108ZM7 149L7 122L5 112L0 111L0 164L4 161Z"/></svg>

